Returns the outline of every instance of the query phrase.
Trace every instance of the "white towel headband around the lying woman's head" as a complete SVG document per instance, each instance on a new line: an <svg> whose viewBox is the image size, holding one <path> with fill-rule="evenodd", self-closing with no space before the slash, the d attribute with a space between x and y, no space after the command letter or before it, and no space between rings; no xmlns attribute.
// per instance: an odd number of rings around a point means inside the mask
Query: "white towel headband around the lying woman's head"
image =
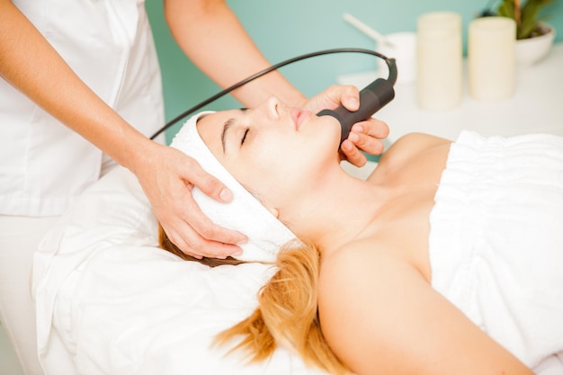
<svg viewBox="0 0 563 375"><path fill-rule="evenodd" d="M241 246L243 254L238 255L237 259L274 262L280 247L296 237L228 173L205 145L195 124L202 115L209 113L213 112L200 112L186 121L170 146L197 160L205 171L227 185L234 198L229 203L221 203L194 187L193 199L214 223L248 237L248 242Z"/></svg>

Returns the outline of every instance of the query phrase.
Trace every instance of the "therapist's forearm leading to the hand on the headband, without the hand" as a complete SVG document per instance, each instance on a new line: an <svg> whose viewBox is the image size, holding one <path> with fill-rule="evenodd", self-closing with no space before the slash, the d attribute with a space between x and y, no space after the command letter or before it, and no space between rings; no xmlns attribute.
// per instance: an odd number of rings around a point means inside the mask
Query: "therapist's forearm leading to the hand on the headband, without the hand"
<svg viewBox="0 0 563 375"><path fill-rule="evenodd" d="M85 85L8 0L0 0L0 76L130 169L140 148L153 143Z"/></svg>

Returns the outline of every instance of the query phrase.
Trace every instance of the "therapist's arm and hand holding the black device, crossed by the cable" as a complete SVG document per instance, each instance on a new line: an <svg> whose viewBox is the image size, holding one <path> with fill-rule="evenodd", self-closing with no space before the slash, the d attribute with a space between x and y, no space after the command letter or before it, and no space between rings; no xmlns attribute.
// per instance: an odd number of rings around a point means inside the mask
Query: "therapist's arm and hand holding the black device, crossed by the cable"
<svg viewBox="0 0 563 375"><path fill-rule="evenodd" d="M183 52L223 88L272 65L225 0L165 0L165 18ZM278 71L243 85L233 96L249 108L272 96L282 103L307 107L312 112L335 109L340 103L350 111L359 107L359 93L355 88L331 87L309 101ZM365 164L366 157L360 149L379 155L383 150L380 138L388 134L389 128L381 121L371 119L357 124L342 145L344 158L353 165Z"/></svg>

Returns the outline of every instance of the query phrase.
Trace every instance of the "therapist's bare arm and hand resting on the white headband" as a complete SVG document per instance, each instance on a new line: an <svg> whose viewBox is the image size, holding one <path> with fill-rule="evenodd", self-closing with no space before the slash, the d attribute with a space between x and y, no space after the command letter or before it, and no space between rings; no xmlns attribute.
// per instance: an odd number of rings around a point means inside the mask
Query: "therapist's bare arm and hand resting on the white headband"
<svg viewBox="0 0 563 375"><path fill-rule="evenodd" d="M192 158L158 145L124 121L9 0L0 0L0 76L136 174L157 219L186 254L224 257L240 251L226 244L246 237L219 228L201 214L189 184L219 201L230 200L226 187Z"/></svg>

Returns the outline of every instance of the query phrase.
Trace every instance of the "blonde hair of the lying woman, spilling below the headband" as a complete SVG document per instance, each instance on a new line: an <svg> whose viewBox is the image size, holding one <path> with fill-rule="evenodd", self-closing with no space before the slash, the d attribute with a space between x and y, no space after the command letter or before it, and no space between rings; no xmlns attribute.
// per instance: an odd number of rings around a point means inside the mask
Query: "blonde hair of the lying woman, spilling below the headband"
<svg viewBox="0 0 563 375"><path fill-rule="evenodd" d="M158 226L160 246L184 260L211 267L242 263L234 258L197 259L175 246ZM334 374L351 371L336 358L326 343L318 318L317 281L320 254L317 246L299 242L283 246L275 266L277 272L259 291L258 308L250 317L221 332L216 344L227 344L237 336L243 339L232 350L249 353L251 362L261 362L273 354L277 344L285 344L304 362Z"/></svg>

